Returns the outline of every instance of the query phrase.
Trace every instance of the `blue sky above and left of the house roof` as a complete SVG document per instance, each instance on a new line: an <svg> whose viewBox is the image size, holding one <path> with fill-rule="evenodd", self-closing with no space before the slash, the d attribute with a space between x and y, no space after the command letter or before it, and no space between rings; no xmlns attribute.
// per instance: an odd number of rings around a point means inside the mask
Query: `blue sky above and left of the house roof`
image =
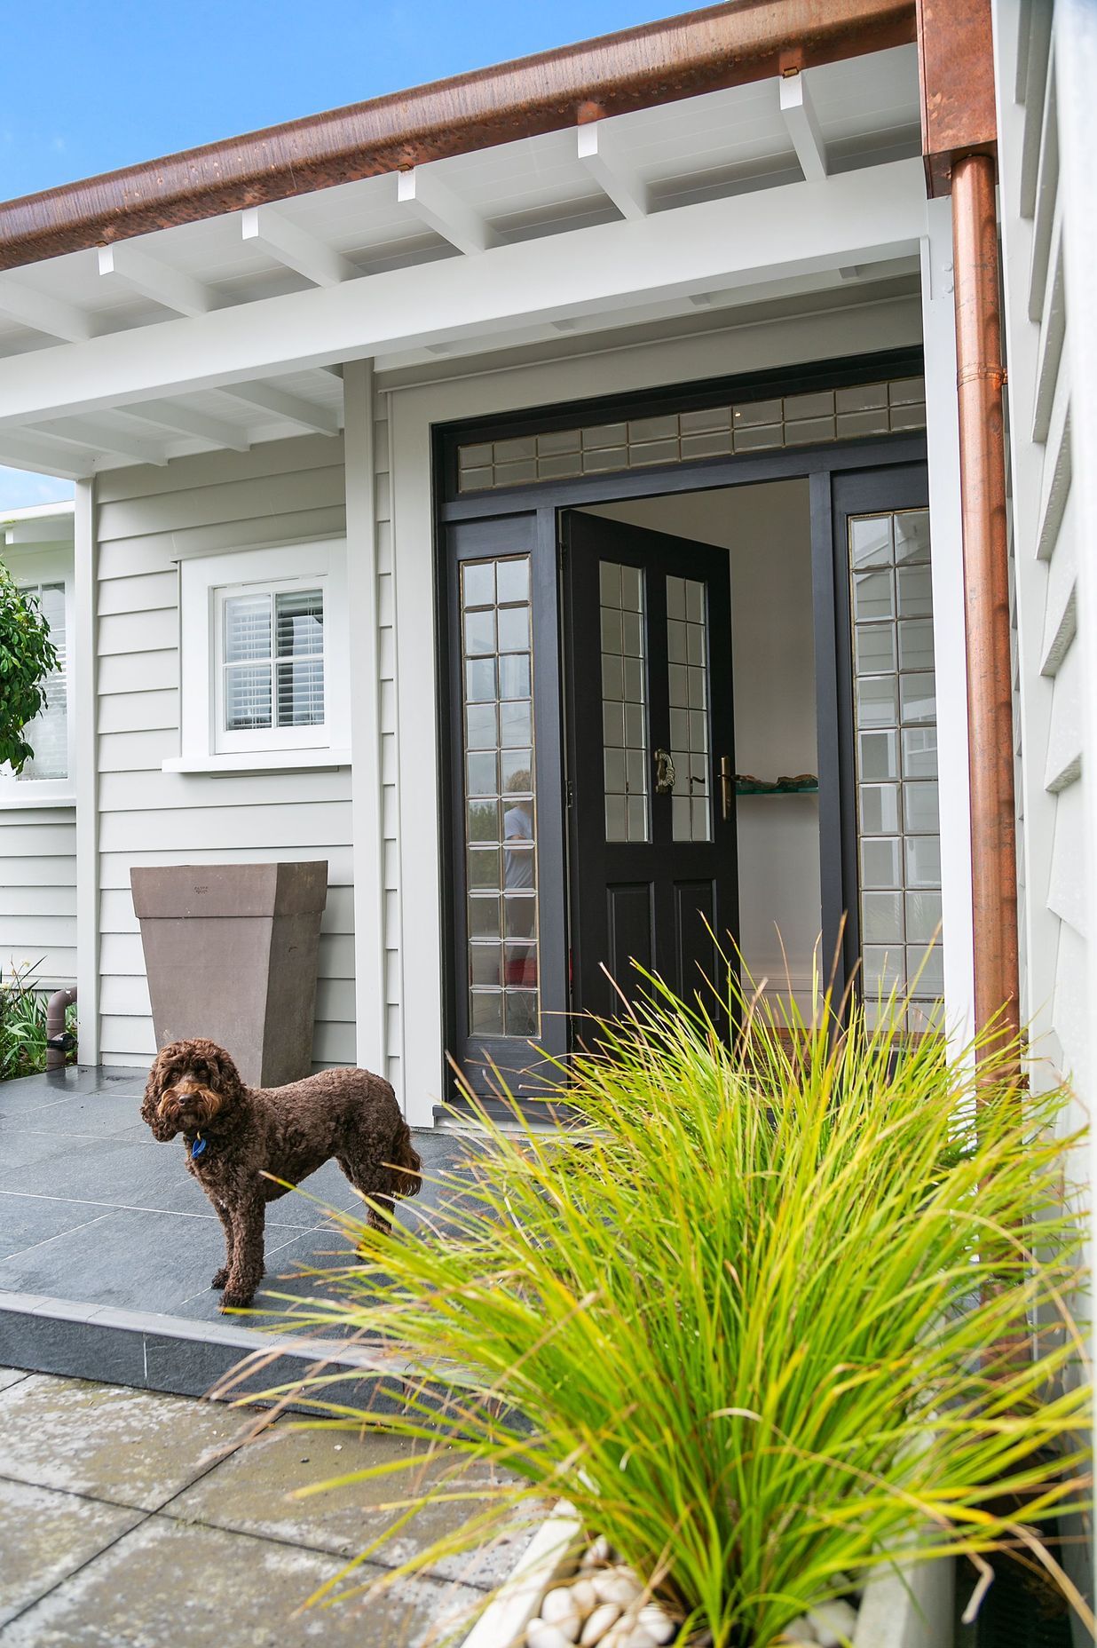
<svg viewBox="0 0 1097 1648"><path fill-rule="evenodd" d="M0 198L665 16L674 0L33 0L5 7ZM69 498L0 468L0 508Z"/></svg>

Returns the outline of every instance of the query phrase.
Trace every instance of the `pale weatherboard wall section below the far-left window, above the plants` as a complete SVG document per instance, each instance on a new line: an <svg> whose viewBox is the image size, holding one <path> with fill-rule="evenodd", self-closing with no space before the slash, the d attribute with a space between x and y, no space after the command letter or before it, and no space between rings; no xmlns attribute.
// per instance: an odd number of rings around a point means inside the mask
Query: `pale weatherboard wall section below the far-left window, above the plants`
<svg viewBox="0 0 1097 1648"><path fill-rule="evenodd" d="M76 982L76 808L0 811L0 976Z"/></svg>

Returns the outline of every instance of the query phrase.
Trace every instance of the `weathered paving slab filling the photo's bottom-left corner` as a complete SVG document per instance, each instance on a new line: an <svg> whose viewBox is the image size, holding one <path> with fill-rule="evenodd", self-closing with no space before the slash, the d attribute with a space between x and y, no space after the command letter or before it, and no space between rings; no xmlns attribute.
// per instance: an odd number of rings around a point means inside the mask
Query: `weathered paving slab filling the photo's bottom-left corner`
<svg viewBox="0 0 1097 1648"><path fill-rule="evenodd" d="M38 1602L3 1633L5 1648L305 1648L364 1643L418 1648L476 1590L418 1580L372 1604L295 1610L339 1561L219 1528L147 1521Z"/></svg>

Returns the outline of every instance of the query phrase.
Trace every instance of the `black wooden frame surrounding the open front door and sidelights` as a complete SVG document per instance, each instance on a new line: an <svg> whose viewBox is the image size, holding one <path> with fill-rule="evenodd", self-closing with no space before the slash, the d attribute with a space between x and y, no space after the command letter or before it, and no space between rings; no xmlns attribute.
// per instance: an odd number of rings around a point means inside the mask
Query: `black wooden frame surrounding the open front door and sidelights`
<svg viewBox="0 0 1097 1648"><path fill-rule="evenodd" d="M812 600L815 613L815 715L819 748L819 854L822 887L824 967L833 964L835 994L845 990L855 961L860 956L858 929L858 849L857 849L857 796L853 766L853 707L852 707L852 658L850 658L850 592L848 559L843 537L835 521L835 488L845 475L870 475L873 470L926 465L924 430L896 435L873 435L827 442L817 447L777 448L768 453L749 453L725 458L702 458L669 465L651 465L644 470L590 475L573 480L529 483L524 486L494 488L461 496L458 493L458 447L468 442L502 440L520 433L548 428L573 428L585 424L619 419L652 417L656 412L708 407L723 400L764 399L769 396L804 394L810 389L840 387L847 384L878 382L883 377L917 376L922 371L922 354L917 351L889 351L886 354L853 356L843 361L812 363L782 372L753 374L740 379L718 379L705 384L685 384L613 399L578 400L527 410L512 417L481 419L455 425L440 425L433 442L435 473L435 588L436 634L440 638L440 691L445 694L438 715L440 748L436 751L441 780L441 842L443 842L443 979L446 1002L446 1043L455 1045L458 1027L458 925L464 908L464 873L455 840L461 829L461 775L455 763L455 728L460 723L460 704L455 712L455 654L453 654L453 532L458 526L483 524L486 536L496 536L506 517L525 517L520 524L522 542L532 544L539 572L535 585L542 592L544 623L540 628L537 702L544 705L542 719L555 704L555 727L550 732L550 758L558 761L558 816L548 819L552 794L544 791L540 809L540 893L542 921L557 920L565 936L568 933L568 867L567 842L567 773L563 770L565 725L563 704L563 631L560 602L560 532L558 519L567 509L590 504L623 503L626 499L659 498L672 493L717 491L733 486L751 486L779 480L807 480L810 496L812 532ZM924 481L922 481L924 485ZM532 517L532 519L530 519ZM516 527L519 522L514 522ZM506 531L506 527L504 527ZM552 577L548 577L552 569ZM550 625L555 626L552 648ZM535 643L537 644L537 643ZM545 676L552 671L552 679ZM458 687L460 692L460 687ZM540 733L539 733L540 737ZM544 761L539 758L539 776L545 780ZM547 859L545 859L547 852ZM547 873L545 873L547 872ZM552 882L557 882L557 887ZM450 897L445 897L445 893ZM555 948L555 946L553 946ZM567 979L565 979L567 984Z"/></svg>

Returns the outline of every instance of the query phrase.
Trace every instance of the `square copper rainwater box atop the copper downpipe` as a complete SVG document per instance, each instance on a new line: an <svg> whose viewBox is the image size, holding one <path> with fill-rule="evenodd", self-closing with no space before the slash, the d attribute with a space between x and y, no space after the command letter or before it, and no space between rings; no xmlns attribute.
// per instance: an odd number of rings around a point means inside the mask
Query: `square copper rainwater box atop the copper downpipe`
<svg viewBox="0 0 1097 1648"><path fill-rule="evenodd" d="M932 199L952 188L957 155L993 155L997 148L990 0L917 0L917 79Z"/></svg>

